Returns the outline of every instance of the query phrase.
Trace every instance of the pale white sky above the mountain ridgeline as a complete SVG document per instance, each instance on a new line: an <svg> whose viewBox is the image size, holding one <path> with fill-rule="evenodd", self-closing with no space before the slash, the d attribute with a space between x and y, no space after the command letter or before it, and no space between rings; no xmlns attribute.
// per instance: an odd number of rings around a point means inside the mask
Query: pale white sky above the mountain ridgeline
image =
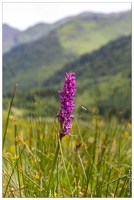
<svg viewBox="0 0 134 200"><path fill-rule="evenodd" d="M122 3L11 3L2 4L2 22L25 30L37 23L54 23L68 16L73 16L82 12L112 13L131 9L131 2Z"/></svg>

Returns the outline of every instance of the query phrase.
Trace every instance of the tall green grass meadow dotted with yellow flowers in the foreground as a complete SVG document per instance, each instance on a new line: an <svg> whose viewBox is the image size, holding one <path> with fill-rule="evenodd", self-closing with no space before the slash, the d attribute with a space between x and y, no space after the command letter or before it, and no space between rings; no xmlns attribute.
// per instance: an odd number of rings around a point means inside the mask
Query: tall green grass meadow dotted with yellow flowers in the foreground
<svg viewBox="0 0 134 200"><path fill-rule="evenodd" d="M40 115L37 101L24 117L14 97L3 110L3 197L131 197L132 127L122 112L106 119L96 104L84 121L75 109L60 141L57 113Z"/></svg>

